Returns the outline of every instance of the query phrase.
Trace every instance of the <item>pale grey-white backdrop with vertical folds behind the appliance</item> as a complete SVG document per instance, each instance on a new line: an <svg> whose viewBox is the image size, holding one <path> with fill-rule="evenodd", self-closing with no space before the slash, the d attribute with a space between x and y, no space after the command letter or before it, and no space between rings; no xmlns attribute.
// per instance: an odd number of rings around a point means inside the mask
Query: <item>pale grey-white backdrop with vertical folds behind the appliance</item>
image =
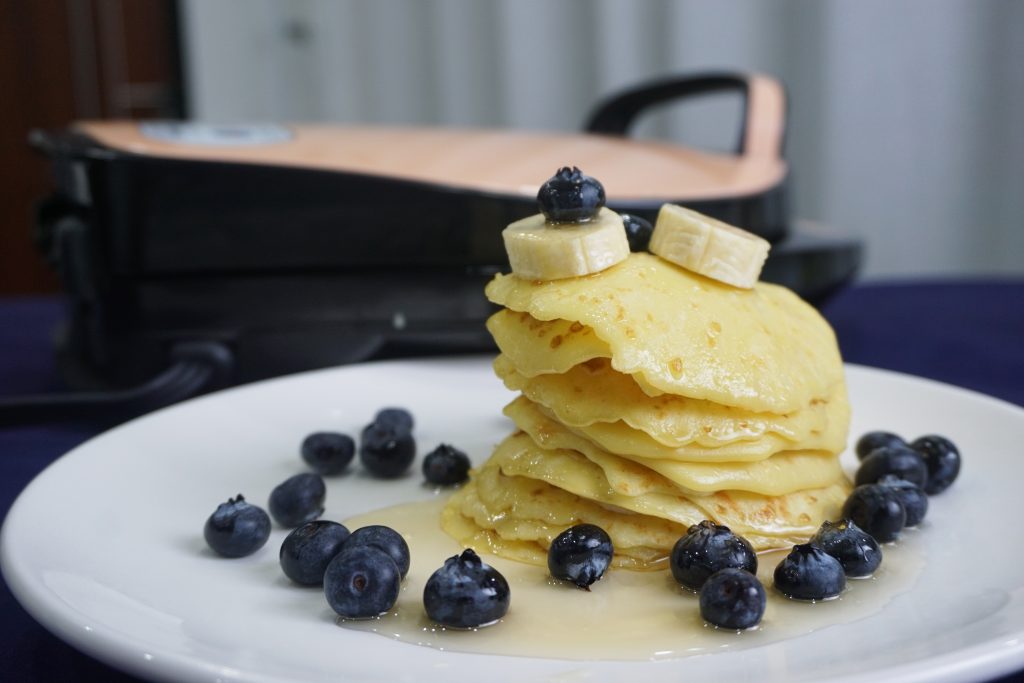
<svg viewBox="0 0 1024 683"><path fill-rule="evenodd" d="M1024 2L185 0L210 121L577 130L603 95L701 69L791 97L795 215L862 238L866 278L1024 274ZM723 147L731 100L639 133Z"/></svg>

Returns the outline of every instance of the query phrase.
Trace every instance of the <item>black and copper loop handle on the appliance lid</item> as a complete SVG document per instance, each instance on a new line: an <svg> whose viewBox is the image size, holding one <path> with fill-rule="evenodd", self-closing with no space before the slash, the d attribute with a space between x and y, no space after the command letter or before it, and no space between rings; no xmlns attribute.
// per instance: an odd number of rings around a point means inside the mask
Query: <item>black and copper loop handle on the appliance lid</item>
<svg viewBox="0 0 1024 683"><path fill-rule="evenodd" d="M650 106L723 91L738 91L743 97L736 154L781 158L785 143L785 89L774 78L761 74L705 73L648 81L598 102L584 130L627 135L637 116Z"/></svg>

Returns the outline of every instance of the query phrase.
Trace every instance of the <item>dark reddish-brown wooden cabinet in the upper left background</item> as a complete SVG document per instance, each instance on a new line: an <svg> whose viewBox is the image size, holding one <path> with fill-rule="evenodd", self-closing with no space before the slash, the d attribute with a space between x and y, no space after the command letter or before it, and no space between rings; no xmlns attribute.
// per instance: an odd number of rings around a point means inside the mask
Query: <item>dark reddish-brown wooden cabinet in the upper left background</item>
<svg viewBox="0 0 1024 683"><path fill-rule="evenodd" d="M0 295L59 286L32 243L33 207L50 181L29 131L182 117L177 27L174 0L0 2Z"/></svg>

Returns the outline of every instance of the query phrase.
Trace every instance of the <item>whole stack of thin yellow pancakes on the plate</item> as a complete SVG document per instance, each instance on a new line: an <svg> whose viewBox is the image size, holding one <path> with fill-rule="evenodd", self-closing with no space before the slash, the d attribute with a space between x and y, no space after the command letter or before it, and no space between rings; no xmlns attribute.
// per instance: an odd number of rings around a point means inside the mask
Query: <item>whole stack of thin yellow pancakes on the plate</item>
<svg viewBox="0 0 1024 683"><path fill-rule="evenodd" d="M742 290L650 254L550 282L498 275L487 323L518 428L456 493L444 529L543 564L603 527L614 563L658 568L712 519L757 550L805 541L850 490L835 335L791 291Z"/></svg>

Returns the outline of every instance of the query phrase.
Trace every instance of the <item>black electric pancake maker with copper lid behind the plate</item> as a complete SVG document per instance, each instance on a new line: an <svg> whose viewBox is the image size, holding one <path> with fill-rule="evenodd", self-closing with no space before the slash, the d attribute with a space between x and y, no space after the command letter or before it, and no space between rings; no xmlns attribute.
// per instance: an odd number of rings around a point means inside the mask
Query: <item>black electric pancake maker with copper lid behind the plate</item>
<svg viewBox="0 0 1024 683"><path fill-rule="evenodd" d="M722 90L744 102L734 154L626 135L649 106ZM621 213L653 221L672 202L766 238L762 278L819 301L853 275L860 249L793 229L784 119L777 82L719 74L615 95L579 134L172 122L36 132L56 177L37 237L70 302L62 375L141 411L295 371L489 348L482 290L508 269L501 231L536 213L540 183L566 165L599 178Z"/></svg>

